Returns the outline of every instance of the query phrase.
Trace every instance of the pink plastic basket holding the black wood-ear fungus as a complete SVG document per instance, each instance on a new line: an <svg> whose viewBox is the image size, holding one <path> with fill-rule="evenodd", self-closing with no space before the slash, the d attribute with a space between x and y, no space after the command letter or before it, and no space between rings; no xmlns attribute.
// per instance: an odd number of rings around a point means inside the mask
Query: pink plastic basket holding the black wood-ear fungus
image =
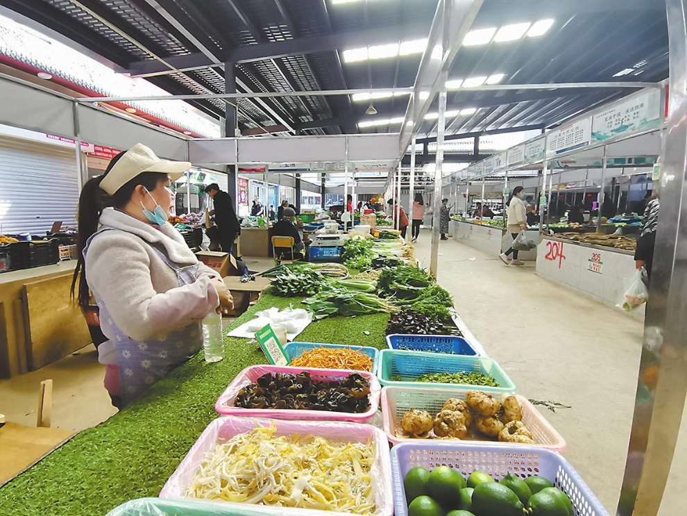
<svg viewBox="0 0 687 516"><path fill-rule="evenodd" d="M328 410L293 410L276 408L241 408L234 406L234 400L241 388L249 383L255 383L265 373L298 374L309 372L313 381L343 381L351 374L357 373L370 382L370 408L366 412L351 414L347 412L330 412ZM371 422L380 404L382 387L372 373L365 371L347 371L344 369L305 369L303 367L282 367L278 365L252 365L241 371L229 384L228 388L214 404L214 410L223 415L241 415L251 417L273 417L274 419L289 419L296 421L349 421L353 423Z"/></svg>

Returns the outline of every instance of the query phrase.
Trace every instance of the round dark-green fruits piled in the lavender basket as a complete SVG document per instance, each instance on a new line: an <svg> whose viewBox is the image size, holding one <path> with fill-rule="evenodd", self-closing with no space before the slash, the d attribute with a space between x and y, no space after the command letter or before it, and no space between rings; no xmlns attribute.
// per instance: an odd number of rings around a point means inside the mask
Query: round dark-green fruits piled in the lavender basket
<svg viewBox="0 0 687 516"><path fill-rule="evenodd" d="M403 479L408 516L572 516L566 493L541 476L508 473L496 481L478 470L414 467Z"/></svg>

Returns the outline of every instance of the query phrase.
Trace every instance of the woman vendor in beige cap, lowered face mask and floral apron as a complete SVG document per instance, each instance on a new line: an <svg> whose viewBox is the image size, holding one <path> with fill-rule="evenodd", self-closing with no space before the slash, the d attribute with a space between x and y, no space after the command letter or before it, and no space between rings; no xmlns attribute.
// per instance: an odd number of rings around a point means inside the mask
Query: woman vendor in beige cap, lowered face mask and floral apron
<svg viewBox="0 0 687 516"><path fill-rule="evenodd" d="M90 294L108 342L98 348L105 388L121 408L194 356L201 319L232 307L219 274L198 263L167 222L171 181L191 163L161 160L143 144L115 156L78 204L78 264L71 292Z"/></svg>

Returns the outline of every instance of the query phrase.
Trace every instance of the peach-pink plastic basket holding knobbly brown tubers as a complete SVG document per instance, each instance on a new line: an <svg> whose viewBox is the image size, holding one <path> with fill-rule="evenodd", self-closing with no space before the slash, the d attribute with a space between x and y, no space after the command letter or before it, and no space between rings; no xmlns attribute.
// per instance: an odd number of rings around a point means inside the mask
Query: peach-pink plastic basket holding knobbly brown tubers
<svg viewBox="0 0 687 516"><path fill-rule="evenodd" d="M427 410L428 413L435 415L439 413L443 403L449 398L465 399L465 394L470 390L465 388L449 388L449 389L425 389L425 388L409 388L409 387L385 387L382 389L382 415L384 416L384 431L387 433L387 438L392 444L400 444L402 442L427 442L427 440L402 438L396 435L396 431L400 430L400 421L411 408L418 410ZM523 423L527 429L532 432L532 437L536 441L536 446L548 448L555 451L563 451L566 449L566 440L561 437L553 426L544 419L543 415L529 403L526 398L516 394L518 401L523 405ZM446 444L450 440L433 440L439 444ZM504 446L509 444L516 444L517 446L525 446L524 444L517 444L511 442L493 442L491 440L471 441L483 442L485 444L494 444L495 446Z"/></svg>

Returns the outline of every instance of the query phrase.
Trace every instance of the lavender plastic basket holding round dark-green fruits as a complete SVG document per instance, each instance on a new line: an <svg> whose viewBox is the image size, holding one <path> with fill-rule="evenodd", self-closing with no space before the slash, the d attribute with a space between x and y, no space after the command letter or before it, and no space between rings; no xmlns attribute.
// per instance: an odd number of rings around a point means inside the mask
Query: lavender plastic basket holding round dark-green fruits
<svg viewBox="0 0 687 516"><path fill-rule="evenodd" d="M408 515L403 478L412 467L457 469L467 477L479 469L498 481L508 473L527 478L543 476L565 492L577 516L609 516L609 512L582 480L582 476L559 453L548 449L509 444L459 444L449 442L405 442L391 449L393 513Z"/></svg>

